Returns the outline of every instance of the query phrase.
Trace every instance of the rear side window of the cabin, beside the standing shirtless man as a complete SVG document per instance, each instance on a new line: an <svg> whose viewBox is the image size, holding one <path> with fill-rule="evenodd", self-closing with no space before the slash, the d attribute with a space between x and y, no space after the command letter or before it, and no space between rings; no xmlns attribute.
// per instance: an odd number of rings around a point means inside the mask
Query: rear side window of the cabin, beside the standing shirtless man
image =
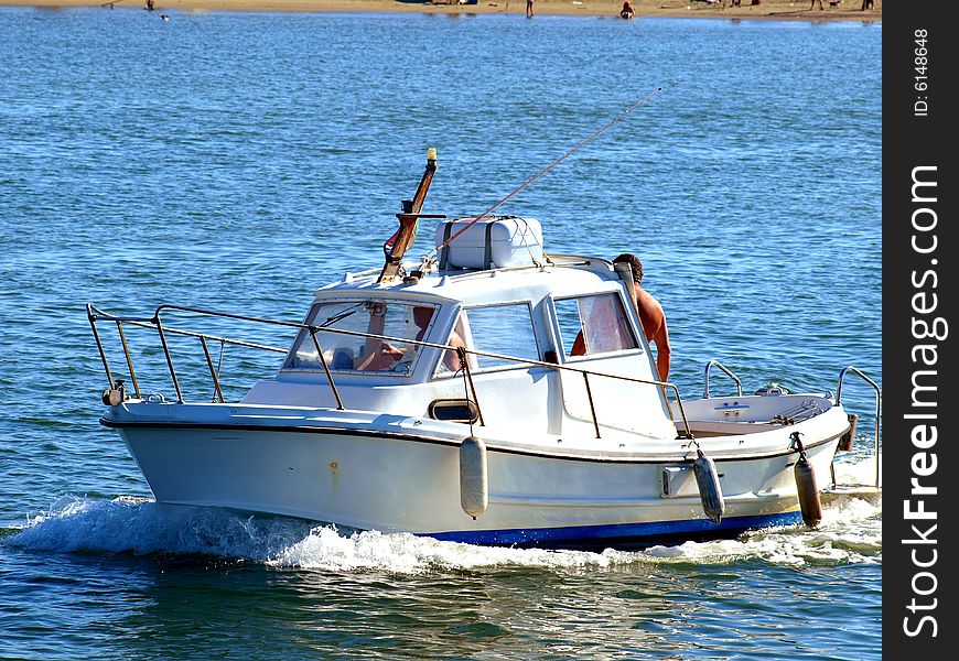
<svg viewBox="0 0 959 661"><path fill-rule="evenodd" d="M635 349L618 294L596 294L553 302L563 354L567 358Z"/></svg>

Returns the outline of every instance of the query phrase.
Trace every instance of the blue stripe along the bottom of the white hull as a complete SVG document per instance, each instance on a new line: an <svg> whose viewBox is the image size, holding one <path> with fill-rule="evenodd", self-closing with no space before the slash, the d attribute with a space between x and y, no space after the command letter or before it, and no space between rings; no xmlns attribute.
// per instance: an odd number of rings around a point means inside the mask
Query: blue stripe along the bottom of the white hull
<svg viewBox="0 0 959 661"><path fill-rule="evenodd" d="M439 532L424 537L450 542L489 545L556 545L578 543L601 545L603 540L631 541L642 545L657 539L730 537L733 533L771 525L800 523L802 514L785 512L759 517L723 519L715 525L709 519L656 521L654 523L616 523L613 525L574 525L568 528L517 528L511 530L463 530Z"/></svg>

